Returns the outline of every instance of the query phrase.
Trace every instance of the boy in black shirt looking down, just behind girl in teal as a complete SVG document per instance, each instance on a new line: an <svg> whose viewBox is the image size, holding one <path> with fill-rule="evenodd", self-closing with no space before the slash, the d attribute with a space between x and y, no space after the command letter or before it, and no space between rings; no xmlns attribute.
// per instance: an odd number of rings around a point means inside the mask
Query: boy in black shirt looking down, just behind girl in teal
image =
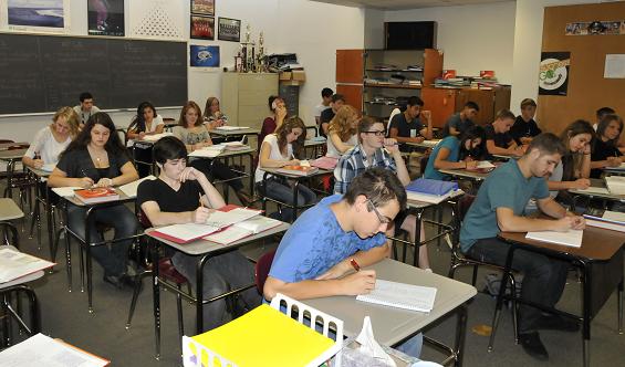
<svg viewBox="0 0 625 367"><path fill-rule="evenodd" d="M509 109L501 109L492 124L485 126L486 149L489 155L517 156L523 155L512 136L508 133L514 124L514 114Z"/></svg>

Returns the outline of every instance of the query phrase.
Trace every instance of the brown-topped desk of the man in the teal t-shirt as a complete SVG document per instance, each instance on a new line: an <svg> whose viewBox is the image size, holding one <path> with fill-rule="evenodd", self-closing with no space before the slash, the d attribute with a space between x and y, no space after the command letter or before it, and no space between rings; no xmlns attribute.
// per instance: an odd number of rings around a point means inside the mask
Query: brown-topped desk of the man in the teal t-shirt
<svg viewBox="0 0 625 367"><path fill-rule="evenodd" d="M558 244L551 244L540 241L525 239L525 232L511 233L501 232L499 238L511 244L510 252L506 263L509 271L512 264L514 251L523 249L525 251L538 252L550 258L555 258L571 262L582 271L582 316L565 314L582 321L583 337L583 363L590 366L590 339L591 339L591 321L601 310L605 301L610 297L614 289L618 290L618 333L623 333L623 253L622 247L625 243L625 233L605 230L596 227L586 227L581 248L571 248ZM617 263L614 263L617 262ZM602 272L602 265L613 263L607 272ZM596 264L596 266L593 266ZM616 270L616 271L615 271ZM601 282L594 280L593 275L602 275ZM496 323L503 304L503 291L501 287L497 298ZM522 302L522 301L519 301ZM553 310L546 310L553 311Z"/></svg>

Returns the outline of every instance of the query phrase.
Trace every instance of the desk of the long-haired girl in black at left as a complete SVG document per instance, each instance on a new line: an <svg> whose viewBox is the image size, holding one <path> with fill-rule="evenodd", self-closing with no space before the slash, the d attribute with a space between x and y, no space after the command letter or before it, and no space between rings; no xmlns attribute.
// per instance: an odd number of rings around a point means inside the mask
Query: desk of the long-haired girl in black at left
<svg viewBox="0 0 625 367"><path fill-rule="evenodd" d="M69 282L69 291L70 292L72 292L72 260L71 260L71 251L70 251L70 235L72 235L74 239L76 239L79 244L81 247L83 247L84 250L86 251L86 289L87 289L87 296L88 296L88 312L90 313L93 313L93 286L92 286L93 263L92 263L92 259L91 259L91 247L106 245L108 243L111 243L112 245L115 245L114 242L119 242L119 241L129 240L129 239L136 239L136 238L139 238L139 237L143 235L143 234L135 234L135 235L132 235L132 237L128 237L128 238L115 239L115 240L110 240L110 241L104 240L103 242L87 243L88 238L91 237L88 223L94 220L93 217L95 216L95 212L97 210L108 208L108 207L114 207L114 206L126 203L126 202L132 202L132 201L136 200L136 197L128 197L122 190L119 190L118 188L115 188L115 191L117 191L117 193L119 195L119 198L117 200L106 201L106 202L97 202L97 203L84 203L74 196L61 197L61 199L64 200L67 203L72 203L76 207L87 208L86 216L85 216L85 223L84 223L84 226L85 226L85 237L84 237L84 239L82 239L77 233L75 233L74 231L72 231L72 229L70 229L70 222L69 222L69 216L67 216L67 206L64 206L64 208L63 208L63 228L61 229L61 231L65 231L65 258L67 260L67 282ZM56 235L58 235L56 241L59 241L60 240L60 233L58 233ZM54 245L53 251L56 252L56 249L58 249L58 243L56 243L56 245ZM81 259L80 259L80 268L81 268L81 290L83 290L84 289L84 270L83 270L82 253L81 253Z"/></svg>

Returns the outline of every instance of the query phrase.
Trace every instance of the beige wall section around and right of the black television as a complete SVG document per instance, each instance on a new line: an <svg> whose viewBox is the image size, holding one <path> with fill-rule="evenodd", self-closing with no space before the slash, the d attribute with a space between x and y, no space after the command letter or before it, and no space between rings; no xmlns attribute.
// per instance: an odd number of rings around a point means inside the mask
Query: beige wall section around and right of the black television
<svg viewBox="0 0 625 367"><path fill-rule="evenodd" d="M493 70L501 83L512 82L513 1L490 4L386 11L384 21L436 21L437 48L445 52L442 69L458 75ZM382 36L382 34L381 34Z"/></svg>

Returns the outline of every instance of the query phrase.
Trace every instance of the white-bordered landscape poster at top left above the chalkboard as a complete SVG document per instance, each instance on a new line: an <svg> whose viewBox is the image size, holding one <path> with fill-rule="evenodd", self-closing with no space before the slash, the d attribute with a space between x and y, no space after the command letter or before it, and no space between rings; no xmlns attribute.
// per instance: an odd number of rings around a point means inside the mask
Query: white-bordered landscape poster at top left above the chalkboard
<svg viewBox="0 0 625 367"><path fill-rule="evenodd" d="M8 0L10 30L64 33L70 27L69 0Z"/></svg>

